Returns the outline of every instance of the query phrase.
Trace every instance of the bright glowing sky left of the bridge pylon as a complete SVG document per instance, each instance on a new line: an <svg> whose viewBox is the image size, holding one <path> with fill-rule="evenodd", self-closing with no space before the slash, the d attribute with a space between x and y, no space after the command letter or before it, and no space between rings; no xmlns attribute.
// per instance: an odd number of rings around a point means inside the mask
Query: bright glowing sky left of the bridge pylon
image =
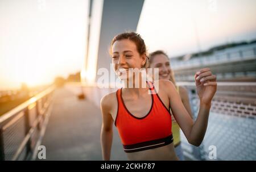
<svg viewBox="0 0 256 172"><path fill-rule="evenodd" d="M0 2L0 89L52 83L81 70L88 1Z"/></svg>

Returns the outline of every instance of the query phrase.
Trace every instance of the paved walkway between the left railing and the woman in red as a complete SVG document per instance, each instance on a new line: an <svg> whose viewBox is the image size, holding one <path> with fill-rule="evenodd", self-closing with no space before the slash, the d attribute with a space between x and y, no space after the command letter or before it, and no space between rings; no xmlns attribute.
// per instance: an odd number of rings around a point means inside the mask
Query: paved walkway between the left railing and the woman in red
<svg viewBox="0 0 256 172"><path fill-rule="evenodd" d="M67 87L57 89L42 145L46 160L102 160L101 112L89 100L79 100ZM127 160L114 127L111 160Z"/></svg>

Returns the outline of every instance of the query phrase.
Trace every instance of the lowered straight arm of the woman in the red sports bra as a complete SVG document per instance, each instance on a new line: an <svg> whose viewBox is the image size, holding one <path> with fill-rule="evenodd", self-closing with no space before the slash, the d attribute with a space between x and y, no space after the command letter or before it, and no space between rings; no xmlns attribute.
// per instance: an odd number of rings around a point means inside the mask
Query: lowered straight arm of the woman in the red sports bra
<svg viewBox="0 0 256 172"><path fill-rule="evenodd" d="M103 160L110 160L111 146L113 140L113 118L110 114L111 100L108 95L101 99L101 151Z"/></svg>

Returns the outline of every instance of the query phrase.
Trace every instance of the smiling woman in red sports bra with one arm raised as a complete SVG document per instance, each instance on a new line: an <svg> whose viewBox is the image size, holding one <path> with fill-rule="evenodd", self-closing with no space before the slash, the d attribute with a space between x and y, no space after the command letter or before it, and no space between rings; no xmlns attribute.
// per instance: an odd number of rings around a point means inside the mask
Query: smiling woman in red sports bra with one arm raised
<svg viewBox="0 0 256 172"><path fill-rule="evenodd" d="M146 45L140 35L126 32L115 36L110 54L114 70L124 86L101 99L103 159L110 160L115 125L129 160L178 160L169 109L188 142L199 146L204 139L211 101L217 89L216 76L210 69L204 68L195 74L200 110L194 122L172 82L143 81L141 73L129 73L130 69L147 68Z"/></svg>

